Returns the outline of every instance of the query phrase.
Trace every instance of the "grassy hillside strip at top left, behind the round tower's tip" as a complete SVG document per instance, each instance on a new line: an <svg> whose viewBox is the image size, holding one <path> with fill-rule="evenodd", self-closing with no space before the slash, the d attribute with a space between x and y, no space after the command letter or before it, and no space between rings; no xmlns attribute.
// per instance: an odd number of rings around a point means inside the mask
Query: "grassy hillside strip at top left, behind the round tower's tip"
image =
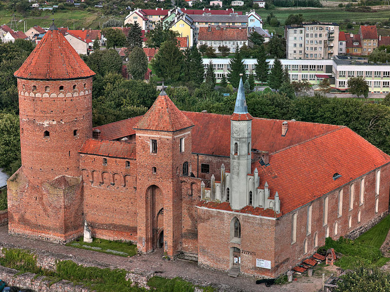
<svg viewBox="0 0 390 292"><path fill-rule="evenodd" d="M12 11L0 10L0 23L6 23L10 25L12 19ZM57 27L69 27L73 29L73 24L75 24L75 29L98 29L103 22L109 19L108 16L103 16L103 11L98 9L92 9L92 11L74 9L74 10L61 10L54 13L54 18L56 19ZM18 30L23 30L24 23L18 22L19 20L26 21L26 27L29 29L34 25L39 25L41 27L49 27L51 24L51 19L53 15L50 11L42 11L40 16L27 16L23 17L22 15L15 13L15 18L18 24ZM122 19L122 18L118 18ZM12 27L14 30L15 25Z"/></svg>

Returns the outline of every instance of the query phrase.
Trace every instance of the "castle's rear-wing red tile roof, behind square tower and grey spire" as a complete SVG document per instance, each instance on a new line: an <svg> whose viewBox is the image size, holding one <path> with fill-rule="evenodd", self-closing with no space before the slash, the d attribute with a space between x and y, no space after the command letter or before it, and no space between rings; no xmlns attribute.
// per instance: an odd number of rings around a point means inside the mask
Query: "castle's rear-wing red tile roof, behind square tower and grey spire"
<svg viewBox="0 0 390 292"><path fill-rule="evenodd" d="M230 157L230 115L183 111L195 127L192 129L192 151L207 155ZM142 116L96 127L101 139L114 140L135 133L133 130ZM288 121L288 132L281 136L284 120L253 118L253 148L270 153L327 133L340 126ZM280 133L280 135L275 133Z"/></svg>

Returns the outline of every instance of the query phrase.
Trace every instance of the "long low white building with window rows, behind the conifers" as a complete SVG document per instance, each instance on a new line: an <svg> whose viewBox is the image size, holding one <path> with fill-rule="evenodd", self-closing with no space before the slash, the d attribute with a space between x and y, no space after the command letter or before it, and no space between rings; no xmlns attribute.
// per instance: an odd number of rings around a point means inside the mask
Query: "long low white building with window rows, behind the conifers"
<svg viewBox="0 0 390 292"><path fill-rule="evenodd" d="M215 77L218 80L230 70L229 58L204 58L205 70L212 61L215 69ZM267 59L269 69L273 67L274 59ZM347 56L335 56L331 60L304 60L304 59L280 59L283 69L287 68L290 80L306 80L312 85L318 84L324 78L329 78L331 88L346 91L348 79L351 77L365 77L369 85L370 93L390 92L390 65L385 63L369 63L365 59L352 59ZM247 74L256 75L256 59L244 59Z"/></svg>

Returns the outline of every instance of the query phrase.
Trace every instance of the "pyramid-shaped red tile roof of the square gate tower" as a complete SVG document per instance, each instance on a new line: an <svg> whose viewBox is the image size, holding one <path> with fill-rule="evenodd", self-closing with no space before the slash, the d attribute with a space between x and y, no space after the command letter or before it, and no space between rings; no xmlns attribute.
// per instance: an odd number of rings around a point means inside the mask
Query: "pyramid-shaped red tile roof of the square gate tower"
<svg viewBox="0 0 390 292"><path fill-rule="evenodd" d="M193 127L194 124L177 109L164 90L134 129L174 132Z"/></svg>

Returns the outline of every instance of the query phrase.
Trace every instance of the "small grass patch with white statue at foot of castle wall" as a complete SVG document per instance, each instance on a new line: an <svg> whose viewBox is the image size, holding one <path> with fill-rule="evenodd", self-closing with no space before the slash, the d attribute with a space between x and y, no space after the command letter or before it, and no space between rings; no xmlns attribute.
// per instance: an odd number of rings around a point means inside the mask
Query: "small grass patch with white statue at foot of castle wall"
<svg viewBox="0 0 390 292"><path fill-rule="evenodd" d="M100 238L93 238L91 243L83 241L83 237L79 237L75 241L68 242L66 246L77 247L99 253L105 253L115 256L134 256L137 254L137 245L130 242L111 241Z"/></svg>

